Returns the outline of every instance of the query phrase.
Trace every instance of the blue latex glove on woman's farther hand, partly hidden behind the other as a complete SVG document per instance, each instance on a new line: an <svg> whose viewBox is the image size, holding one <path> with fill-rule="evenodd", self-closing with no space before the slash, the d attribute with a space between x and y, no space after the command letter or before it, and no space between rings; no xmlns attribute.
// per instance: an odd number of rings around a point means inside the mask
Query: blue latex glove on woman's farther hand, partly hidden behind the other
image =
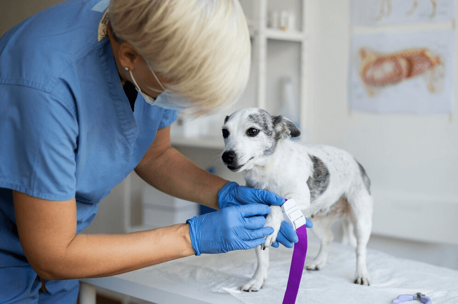
<svg viewBox="0 0 458 304"><path fill-rule="evenodd" d="M218 206L220 209L228 206L240 206L247 204L266 204L281 206L285 202L284 198L276 194L250 188L246 186L239 186L234 181L230 181L218 193ZM306 218L306 227L312 228L312 222ZM277 235L277 240L272 244L273 247L278 248L278 242L287 248L292 248L294 243L299 239L297 238L296 231L287 222L282 222L280 231Z"/></svg>

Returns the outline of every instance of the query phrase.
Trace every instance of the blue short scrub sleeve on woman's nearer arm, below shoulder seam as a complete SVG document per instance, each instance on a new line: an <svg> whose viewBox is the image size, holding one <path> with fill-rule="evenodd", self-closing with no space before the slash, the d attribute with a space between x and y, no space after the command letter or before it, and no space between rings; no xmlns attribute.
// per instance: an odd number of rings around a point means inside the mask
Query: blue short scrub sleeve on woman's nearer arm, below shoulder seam
<svg viewBox="0 0 458 304"><path fill-rule="evenodd" d="M0 187L45 200L74 198L75 108L27 86L3 85L0 92Z"/></svg>

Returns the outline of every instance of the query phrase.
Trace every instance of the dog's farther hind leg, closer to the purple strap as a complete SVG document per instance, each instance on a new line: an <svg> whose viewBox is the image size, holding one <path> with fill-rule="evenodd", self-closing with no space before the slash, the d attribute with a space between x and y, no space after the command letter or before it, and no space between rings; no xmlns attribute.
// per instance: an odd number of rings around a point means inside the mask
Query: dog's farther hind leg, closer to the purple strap
<svg viewBox="0 0 458 304"><path fill-rule="evenodd" d="M312 221L314 223L311 229L314 234L320 239L320 250L316 258L306 264L308 270L320 270L328 261L328 252L334 234L331 231L331 225L334 218L332 216L315 217Z"/></svg>

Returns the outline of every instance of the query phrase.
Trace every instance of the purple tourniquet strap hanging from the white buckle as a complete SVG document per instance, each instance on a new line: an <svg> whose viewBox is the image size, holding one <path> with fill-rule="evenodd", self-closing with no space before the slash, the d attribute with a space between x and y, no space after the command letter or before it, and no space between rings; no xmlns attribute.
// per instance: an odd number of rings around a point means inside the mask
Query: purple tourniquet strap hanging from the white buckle
<svg viewBox="0 0 458 304"><path fill-rule="evenodd" d="M300 278L307 255L307 227L302 225L296 229L299 241L294 244L292 253L291 267L289 268L288 284L286 285L283 304L294 304L296 302L297 291L299 290Z"/></svg>

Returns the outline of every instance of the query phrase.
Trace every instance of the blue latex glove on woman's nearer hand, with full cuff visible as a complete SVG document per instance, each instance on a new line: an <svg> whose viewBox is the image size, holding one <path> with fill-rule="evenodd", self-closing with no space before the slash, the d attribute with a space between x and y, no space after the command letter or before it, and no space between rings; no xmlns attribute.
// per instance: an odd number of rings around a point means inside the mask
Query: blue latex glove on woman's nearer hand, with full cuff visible
<svg viewBox="0 0 458 304"><path fill-rule="evenodd" d="M251 249L264 244L274 232L264 227L270 207L262 204L232 206L188 219L195 255Z"/></svg>

